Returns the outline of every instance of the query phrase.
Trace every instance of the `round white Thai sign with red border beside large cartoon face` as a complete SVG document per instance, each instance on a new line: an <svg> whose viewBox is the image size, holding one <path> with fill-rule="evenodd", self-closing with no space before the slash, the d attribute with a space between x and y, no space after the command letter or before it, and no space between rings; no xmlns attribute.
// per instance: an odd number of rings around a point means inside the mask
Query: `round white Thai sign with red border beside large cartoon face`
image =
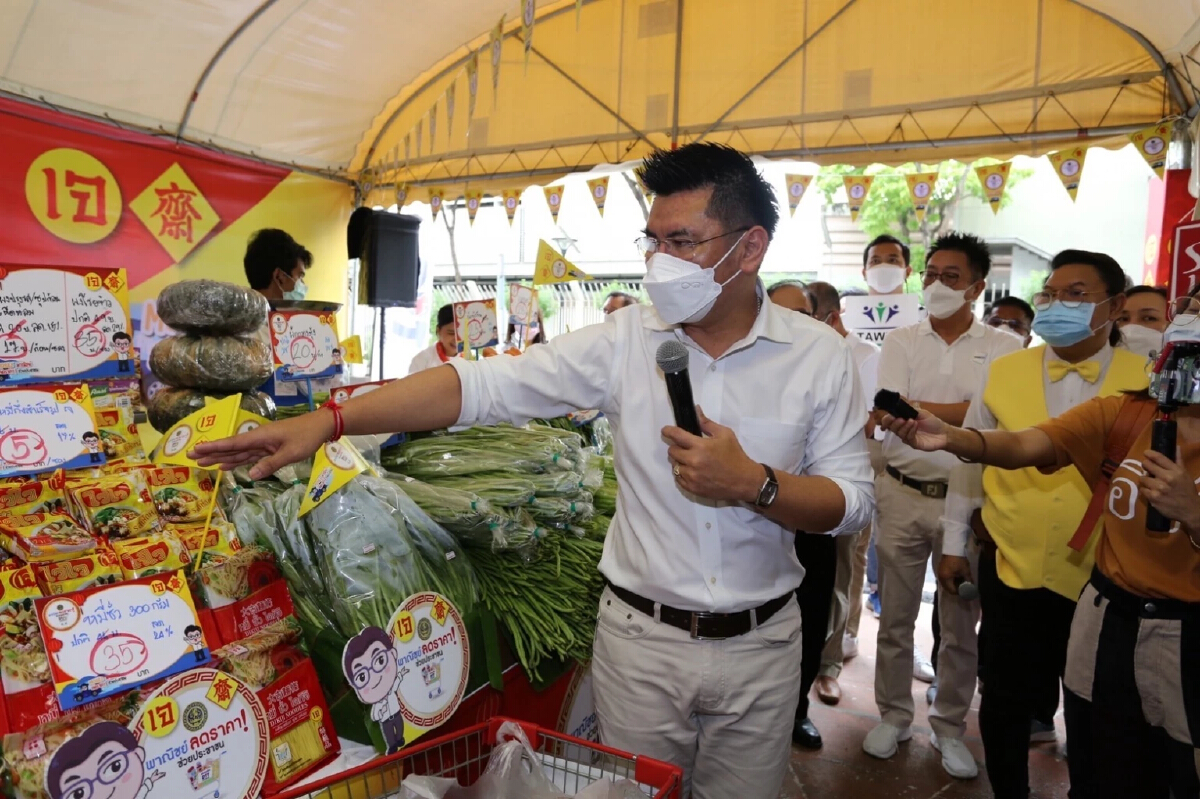
<svg viewBox="0 0 1200 799"><path fill-rule="evenodd" d="M157 775L143 799L252 799L263 789L266 710L229 674L193 668L170 678L143 703L130 731L146 776Z"/></svg>

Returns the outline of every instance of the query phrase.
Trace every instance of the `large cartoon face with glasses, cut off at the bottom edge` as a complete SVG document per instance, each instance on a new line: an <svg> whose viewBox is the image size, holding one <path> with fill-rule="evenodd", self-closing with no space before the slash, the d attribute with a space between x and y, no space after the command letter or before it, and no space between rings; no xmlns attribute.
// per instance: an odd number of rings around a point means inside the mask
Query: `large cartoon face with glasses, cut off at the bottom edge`
<svg viewBox="0 0 1200 799"><path fill-rule="evenodd" d="M146 753L132 732L115 721L88 727L62 744L46 768L50 799L146 799L167 776L146 774Z"/></svg>

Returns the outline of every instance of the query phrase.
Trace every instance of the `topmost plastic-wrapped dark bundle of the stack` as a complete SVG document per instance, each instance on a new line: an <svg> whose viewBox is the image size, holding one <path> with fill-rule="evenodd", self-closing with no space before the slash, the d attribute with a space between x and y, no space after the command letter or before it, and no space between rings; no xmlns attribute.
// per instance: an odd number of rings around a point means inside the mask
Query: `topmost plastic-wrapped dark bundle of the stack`
<svg viewBox="0 0 1200 799"><path fill-rule="evenodd" d="M258 292L217 281L173 283L158 294L157 304L158 317L175 330L234 336L265 325L269 310Z"/></svg>

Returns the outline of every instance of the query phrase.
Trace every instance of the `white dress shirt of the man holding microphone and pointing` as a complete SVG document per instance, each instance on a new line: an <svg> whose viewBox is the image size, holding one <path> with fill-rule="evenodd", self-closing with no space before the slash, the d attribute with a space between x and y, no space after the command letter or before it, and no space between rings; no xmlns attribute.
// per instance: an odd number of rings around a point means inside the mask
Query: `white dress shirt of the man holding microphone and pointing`
<svg viewBox="0 0 1200 799"><path fill-rule="evenodd" d="M654 360L671 340L688 347L696 403L733 429L746 455L780 471L833 480L846 501L834 534L866 525L875 498L850 346L828 325L769 301L749 335L716 360L647 305L521 358L455 359L458 423L600 410L613 428L618 477L600 571L614 585L685 611L756 607L804 578L793 533L754 507L700 499L677 486L661 434L674 415Z"/></svg>

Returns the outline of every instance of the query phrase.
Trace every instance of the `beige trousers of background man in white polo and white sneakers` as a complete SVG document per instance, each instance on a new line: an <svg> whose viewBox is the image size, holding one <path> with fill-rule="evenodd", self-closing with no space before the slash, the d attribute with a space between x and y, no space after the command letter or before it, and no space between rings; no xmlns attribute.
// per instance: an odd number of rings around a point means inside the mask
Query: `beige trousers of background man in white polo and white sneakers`
<svg viewBox="0 0 1200 799"><path fill-rule="evenodd" d="M913 629L925 588L925 566L942 559L944 499L923 497L895 479L875 479L876 537L880 558L880 637L875 661L875 703L883 721L900 728L912 723ZM971 553L976 572L978 551ZM941 590L941 589L938 589ZM929 723L942 738L959 738L974 697L979 603L941 591L942 644L937 656L937 699Z"/></svg>

